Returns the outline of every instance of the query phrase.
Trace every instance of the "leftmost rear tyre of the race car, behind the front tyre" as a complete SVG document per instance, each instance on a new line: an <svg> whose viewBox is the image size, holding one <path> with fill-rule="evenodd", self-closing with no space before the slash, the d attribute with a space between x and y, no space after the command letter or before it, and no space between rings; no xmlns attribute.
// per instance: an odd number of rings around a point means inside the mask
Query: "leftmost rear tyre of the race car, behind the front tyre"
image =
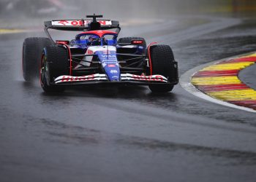
<svg viewBox="0 0 256 182"><path fill-rule="evenodd" d="M22 68L27 82L38 78L42 49L50 44L50 39L45 37L30 37L23 41Z"/></svg>

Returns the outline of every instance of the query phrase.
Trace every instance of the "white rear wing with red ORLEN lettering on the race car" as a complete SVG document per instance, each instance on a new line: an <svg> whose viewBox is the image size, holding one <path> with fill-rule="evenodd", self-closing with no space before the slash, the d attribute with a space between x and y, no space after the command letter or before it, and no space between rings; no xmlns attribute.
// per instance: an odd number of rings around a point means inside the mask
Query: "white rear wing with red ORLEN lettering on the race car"
<svg viewBox="0 0 256 182"><path fill-rule="evenodd" d="M102 15L87 15L92 17L93 20L52 20L45 21L45 33L51 41L53 39L48 32L48 29L55 29L59 31L94 31L94 30L109 30L116 28L116 33L121 31L119 22L116 20L97 20L97 17ZM54 41L53 41L54 42Z"/></svg>

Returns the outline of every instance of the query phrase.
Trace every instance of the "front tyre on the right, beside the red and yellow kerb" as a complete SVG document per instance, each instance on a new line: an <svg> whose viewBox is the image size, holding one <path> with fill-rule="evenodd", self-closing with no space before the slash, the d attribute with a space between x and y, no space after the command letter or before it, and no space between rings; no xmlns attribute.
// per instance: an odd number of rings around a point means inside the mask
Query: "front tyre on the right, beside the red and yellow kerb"
<svg viewBox="0 0 256 182"><path fill-rule="evenodd" d="M168 45L155 45L150 48L152 75L159 74L167 79L172 75L172 63L174 61L173 50ZM173 84L151 84L148 86L151 92L170 92Z"/></svg>

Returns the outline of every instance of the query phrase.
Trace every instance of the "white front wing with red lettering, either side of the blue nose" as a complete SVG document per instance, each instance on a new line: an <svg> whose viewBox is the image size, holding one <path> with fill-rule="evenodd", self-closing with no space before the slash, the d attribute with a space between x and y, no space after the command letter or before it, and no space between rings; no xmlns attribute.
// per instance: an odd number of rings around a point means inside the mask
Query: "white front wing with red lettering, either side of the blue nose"
<svg viewBox="0 0 256 182"><path fill-rule="evenodd" d="M140 76L135 74L121 74L121 81L110 82L105 74L91 74L87 76L59 76L54 79L53 84L176 84L168 82L162 75Z"/></svg>

